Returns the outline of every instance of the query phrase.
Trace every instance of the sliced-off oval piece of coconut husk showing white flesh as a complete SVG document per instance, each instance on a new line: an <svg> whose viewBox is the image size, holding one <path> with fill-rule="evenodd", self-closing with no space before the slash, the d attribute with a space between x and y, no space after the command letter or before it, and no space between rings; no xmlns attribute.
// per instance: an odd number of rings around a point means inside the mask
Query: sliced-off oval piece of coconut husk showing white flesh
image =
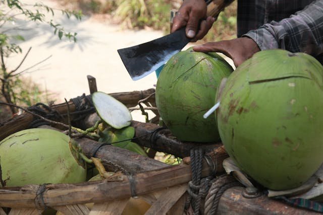
<svg viewBox="0 0 323 215"><path fill-rule="evenodd" d="M129 126L132 116L128 108L112 96L95 92L92 101L99 117L114 128L120 129Z"/></svg>

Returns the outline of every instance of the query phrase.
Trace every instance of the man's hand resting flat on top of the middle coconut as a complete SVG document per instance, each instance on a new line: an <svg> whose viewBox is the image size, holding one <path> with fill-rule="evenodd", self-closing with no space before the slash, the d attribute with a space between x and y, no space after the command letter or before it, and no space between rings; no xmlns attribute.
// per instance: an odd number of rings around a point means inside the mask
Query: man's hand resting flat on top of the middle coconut
<svg viewBox="0 0 323 215"><path fill-rule="evenodd" d="M249 59L254 53L260 51L257 43L249 37L209 42L203 45L194 46L193 50L200 52L221 52L230 57L236 67Z"/></svg>

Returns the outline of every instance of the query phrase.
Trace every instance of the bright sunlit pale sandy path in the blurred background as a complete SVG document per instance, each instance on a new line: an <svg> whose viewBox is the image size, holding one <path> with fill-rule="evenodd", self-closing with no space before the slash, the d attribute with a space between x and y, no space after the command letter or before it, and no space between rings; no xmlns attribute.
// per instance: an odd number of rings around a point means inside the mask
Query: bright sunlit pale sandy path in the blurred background
<svg viewBox="0 0 323 215"><path fill-rule="evenodd" d="M24 3L34 1L25 0ZM42 0L43 4L58 8L56 2ZM25 74L43 89L55 94L56 103L89 94L86 76L96 78L98 91L105 93L145 90L153 88L155 74L139 81L132 81L127 73L117 49L158 38L160 31L122 30L117 25L104 20L83 17L81 21L67 19L61 13L54 17L67 31L77 32L77 43L60 41L46 25L29 25L32 30L25 31L26 41L21 44L24 53L32 47L22 68L27 68L44 58L51 57L37 66L32 73ZM22 21L23 22L23 21ZM22 58L10 58L10 65L17 65Z"/></svg>

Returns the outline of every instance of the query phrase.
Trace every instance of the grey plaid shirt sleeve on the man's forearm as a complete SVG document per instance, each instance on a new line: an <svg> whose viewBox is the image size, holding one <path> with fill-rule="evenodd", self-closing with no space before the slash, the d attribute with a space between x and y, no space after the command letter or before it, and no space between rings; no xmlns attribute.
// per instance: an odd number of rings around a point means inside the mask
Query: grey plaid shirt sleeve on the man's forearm
<svg viewBox="0 0 323 215"><path fill-rule="evenodd" d="M323 52L323 0L316 0L289 18L264 24L242 36L252 38L260 50L281 48L317 56Z"/></svg>

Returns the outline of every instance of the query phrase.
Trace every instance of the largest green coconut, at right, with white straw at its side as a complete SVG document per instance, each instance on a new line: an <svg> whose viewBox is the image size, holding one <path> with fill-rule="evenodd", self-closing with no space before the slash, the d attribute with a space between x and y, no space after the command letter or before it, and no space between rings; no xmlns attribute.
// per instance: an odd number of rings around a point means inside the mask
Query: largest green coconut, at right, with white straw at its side
<svg viewBox="0 0 323 215"><path fill-rule="evenodd" d="M228 78L217 112L237 165L274 190L302 185L323 162L323 66L305 53L266 50Z"/></svg>

